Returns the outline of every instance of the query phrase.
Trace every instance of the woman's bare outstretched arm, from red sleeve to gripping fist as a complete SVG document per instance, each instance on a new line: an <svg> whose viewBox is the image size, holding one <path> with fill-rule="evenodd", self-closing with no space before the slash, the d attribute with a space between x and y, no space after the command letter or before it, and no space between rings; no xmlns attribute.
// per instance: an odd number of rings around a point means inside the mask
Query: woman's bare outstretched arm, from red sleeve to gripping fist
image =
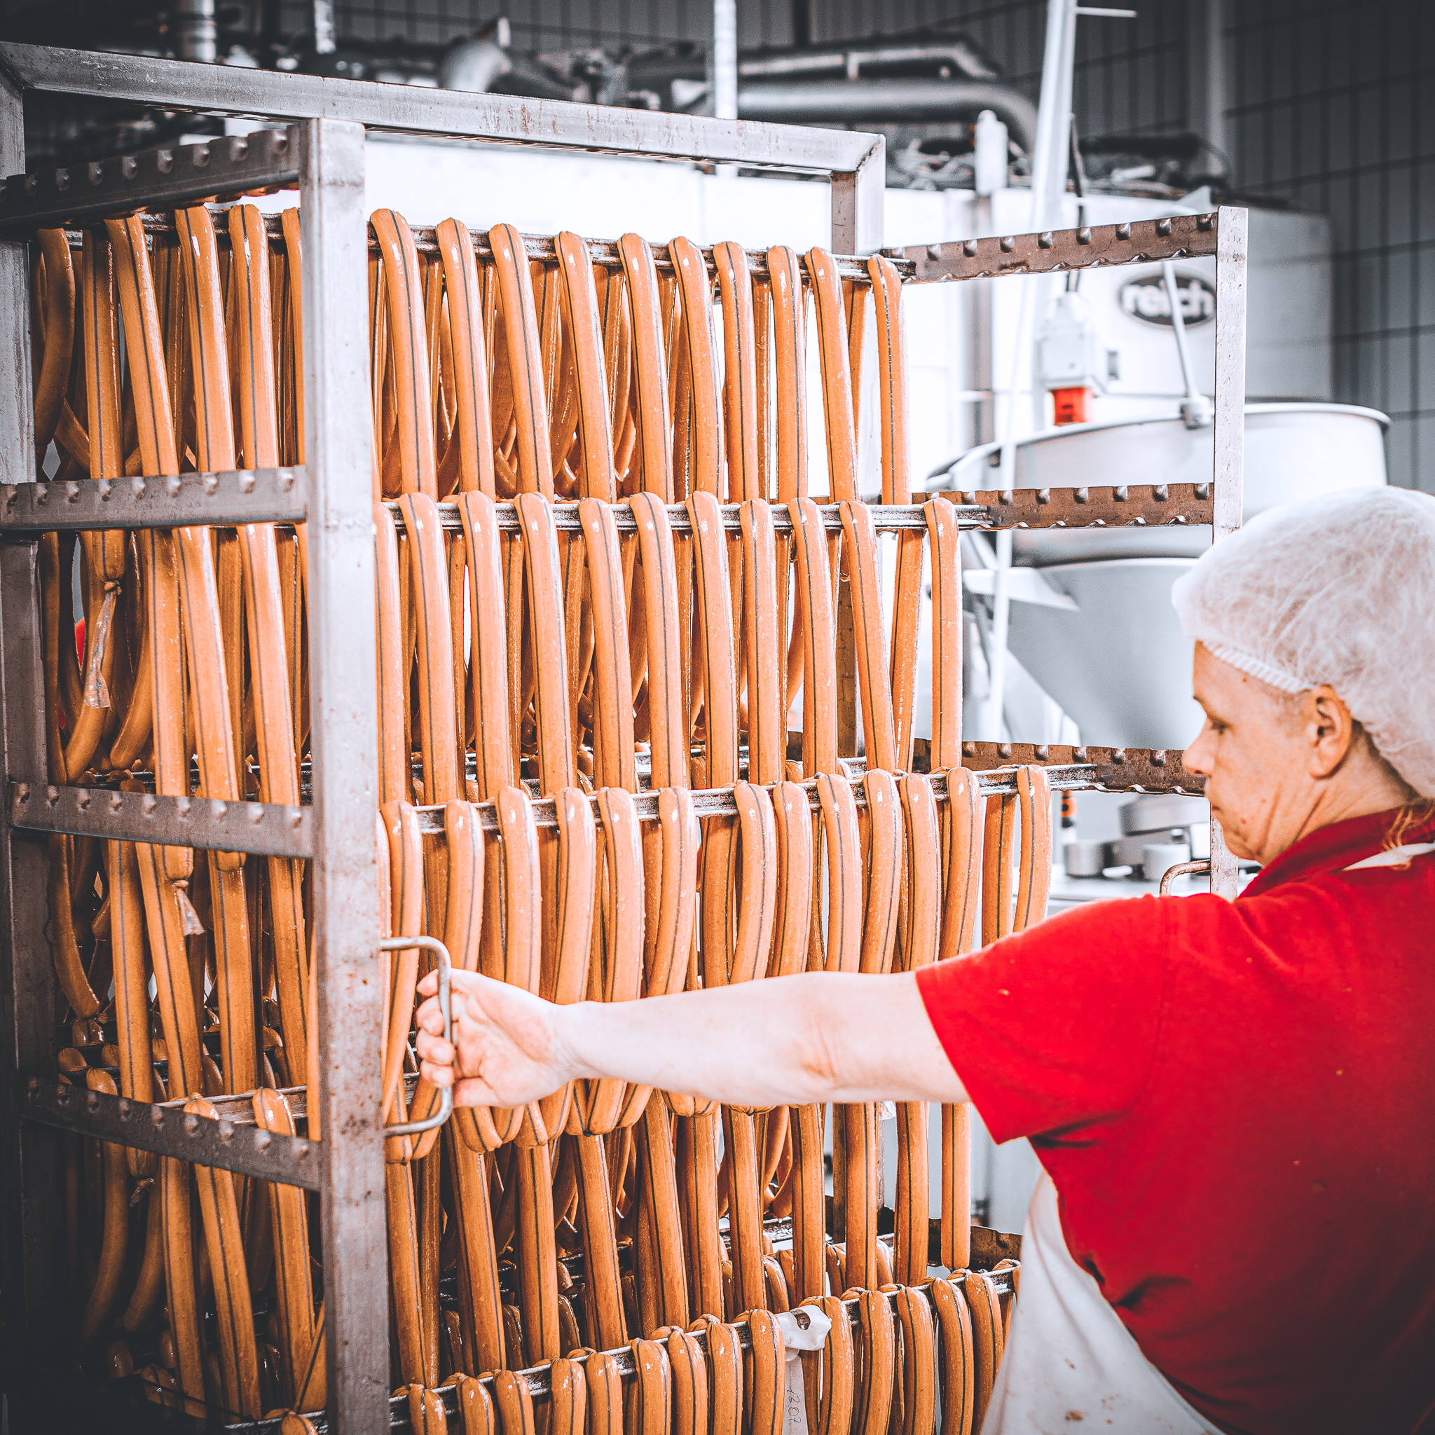
<svg viewBox="0 0 1435 1435"><path fill-rule="evenodd" d="M468 1106L519 1106L574 1078L613 1076L748 1106L966 1101L917 979L806 973L643 1002L554 1006L453 973L458 1052L438 976L419 984L423 1075ZM455 1063L456 1055L456 1063Z"/></svg>

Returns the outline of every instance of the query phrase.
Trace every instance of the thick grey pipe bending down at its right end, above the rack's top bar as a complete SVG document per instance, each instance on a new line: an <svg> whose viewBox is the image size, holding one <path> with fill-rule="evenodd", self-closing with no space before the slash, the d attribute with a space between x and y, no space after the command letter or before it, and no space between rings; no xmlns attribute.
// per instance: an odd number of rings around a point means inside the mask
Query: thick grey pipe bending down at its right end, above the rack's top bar
<svg viewBox="0 0 1435 1435"><path fill-rule="evenodd" d="M815 80L802 85L742 85L738 115L779 123L921 123L990 109L1030 154L1036 109L1025 95L989 80Z"/></svg>

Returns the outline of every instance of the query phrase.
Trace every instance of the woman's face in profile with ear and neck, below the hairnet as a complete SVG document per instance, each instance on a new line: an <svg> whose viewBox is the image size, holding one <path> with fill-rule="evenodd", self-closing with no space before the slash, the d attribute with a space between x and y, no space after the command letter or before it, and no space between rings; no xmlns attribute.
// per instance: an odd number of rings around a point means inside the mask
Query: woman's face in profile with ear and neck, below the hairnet
<svg viewBox="0 0 1435 1435"><path fill-rule="evenodd" d="M1205 725L1184 762L1205 776L1211 817L1237 857L1269 862L1319 827L1406 799L1332 687L1279 692L1203 643L1192 677Z"/></svg>

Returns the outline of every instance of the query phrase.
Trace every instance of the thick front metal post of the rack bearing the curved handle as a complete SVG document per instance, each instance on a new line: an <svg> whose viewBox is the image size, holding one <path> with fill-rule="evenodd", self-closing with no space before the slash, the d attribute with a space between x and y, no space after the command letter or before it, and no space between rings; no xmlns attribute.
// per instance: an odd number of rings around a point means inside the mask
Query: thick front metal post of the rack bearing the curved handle
<svg viewBox="0 0 1435 1435"><path fill-rule="evenodd" d="M319 1144L330 1428L389 1428L363 126L301 129Z"/></svg>

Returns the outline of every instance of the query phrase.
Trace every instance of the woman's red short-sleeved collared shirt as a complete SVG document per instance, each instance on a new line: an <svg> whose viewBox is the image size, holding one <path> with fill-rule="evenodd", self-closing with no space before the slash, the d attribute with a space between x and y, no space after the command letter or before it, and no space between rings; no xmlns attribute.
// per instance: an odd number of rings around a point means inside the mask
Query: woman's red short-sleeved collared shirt
<svg viewBox="0 0 1435 1435"><path fill-rule="evenodd" d="M1340 871L1393 817L1313 832L1234 903L1101 903L918 976L1076 1261L1227 1431L1435 1408L1435 854Z"/></svg>

